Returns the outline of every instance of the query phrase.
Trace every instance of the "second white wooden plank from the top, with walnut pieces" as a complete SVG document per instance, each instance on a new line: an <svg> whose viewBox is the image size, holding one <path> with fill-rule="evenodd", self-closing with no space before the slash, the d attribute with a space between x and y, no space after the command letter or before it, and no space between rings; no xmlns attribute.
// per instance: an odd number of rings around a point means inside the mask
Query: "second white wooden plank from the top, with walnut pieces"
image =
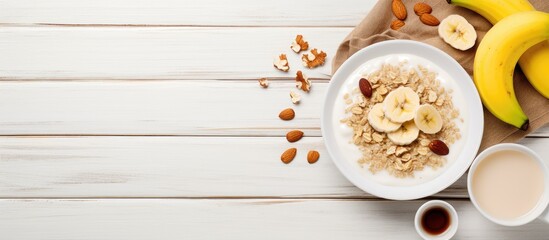
<svg viewBox="0 0 549 240"><path fill-rule="evenodd" d="M328 54L310 77L328 79L351 28L3 27L0 79L257 79L303 69L289 46L303 34ZM287 53L289 73L273 67Z"/></svg>

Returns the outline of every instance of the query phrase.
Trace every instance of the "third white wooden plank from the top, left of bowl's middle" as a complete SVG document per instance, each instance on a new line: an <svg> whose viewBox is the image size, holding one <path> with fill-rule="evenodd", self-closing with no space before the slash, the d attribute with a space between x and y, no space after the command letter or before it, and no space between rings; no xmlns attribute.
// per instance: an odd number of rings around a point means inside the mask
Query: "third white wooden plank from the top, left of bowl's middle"
<svg viewBox="0 0 549 240"><path fill-rule="evenodd" d="M0 82L0 135L320 136L328 84L305 94L294 81ZM289 92L302 101L294 105ZM296 118L278 119L292 107ZM549 136L549 127L532 136Z"/></svg>

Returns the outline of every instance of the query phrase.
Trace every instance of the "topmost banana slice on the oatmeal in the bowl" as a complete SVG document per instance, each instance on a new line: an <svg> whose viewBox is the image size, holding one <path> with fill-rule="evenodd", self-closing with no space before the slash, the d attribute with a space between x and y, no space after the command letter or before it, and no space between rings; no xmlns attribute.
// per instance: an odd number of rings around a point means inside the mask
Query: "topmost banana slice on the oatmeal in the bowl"
<svg viewBox="0 0 549 240"><path fill-rule="evenodd" d="M383 101L385 116L397 123L412 120L418 107L419 96L409 87L399 87L393 90Z"/></svg>

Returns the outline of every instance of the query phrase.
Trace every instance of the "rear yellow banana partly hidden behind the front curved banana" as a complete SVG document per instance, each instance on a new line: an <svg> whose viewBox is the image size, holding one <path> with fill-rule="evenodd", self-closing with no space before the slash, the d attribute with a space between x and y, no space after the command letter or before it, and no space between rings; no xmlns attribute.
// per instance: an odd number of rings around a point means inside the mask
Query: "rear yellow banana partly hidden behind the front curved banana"
<svg viewBox="0 0 549 240"><path fill-rule="evenodd" d="M471 9L492 24L517 12L535 10L528 0L447 0L456 6ZM519 60L519 65L528 81L544 97L549 98L549 41L538 43L528 49Z"/></svg>

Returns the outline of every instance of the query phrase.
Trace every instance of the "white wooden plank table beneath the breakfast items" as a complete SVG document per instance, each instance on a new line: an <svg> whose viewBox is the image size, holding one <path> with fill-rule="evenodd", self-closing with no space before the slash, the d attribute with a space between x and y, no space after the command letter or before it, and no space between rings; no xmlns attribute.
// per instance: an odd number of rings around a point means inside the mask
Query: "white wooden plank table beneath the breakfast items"
<svg viewBox="0 0 549 240"><path fill-rule="evenodd" d="M332 57L374 4L0 0L0 239L418 238L425 200L374 198L328 157L330 64L307 71L296 119L277 118L300 68L294 36ZM282 52L288 74L271 65ZM306 138L290 145L290 129ZM522 143L548 156L549 128ZM432 197L457 208L456 238L549 238L538 221L488 222L465 186Z"/></svg>

